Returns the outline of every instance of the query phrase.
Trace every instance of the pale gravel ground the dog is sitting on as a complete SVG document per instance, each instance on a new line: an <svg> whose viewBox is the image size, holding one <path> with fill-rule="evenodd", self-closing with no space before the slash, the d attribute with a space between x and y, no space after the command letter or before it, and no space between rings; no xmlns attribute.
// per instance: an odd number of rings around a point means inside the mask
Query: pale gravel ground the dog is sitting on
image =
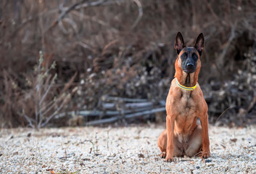
<svg viewBox="0 0 256 174"><path fill-rule="evenodd" d="M0 130L0 173L256 173L256 127L210 126L212 156L160 158L156 125Z"/></svg>

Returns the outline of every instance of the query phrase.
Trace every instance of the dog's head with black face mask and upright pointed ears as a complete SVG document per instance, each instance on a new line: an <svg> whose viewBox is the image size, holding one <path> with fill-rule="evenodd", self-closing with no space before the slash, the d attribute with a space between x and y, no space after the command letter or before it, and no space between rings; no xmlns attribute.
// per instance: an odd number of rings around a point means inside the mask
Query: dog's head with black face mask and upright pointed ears
<svg viewBox="0 0 256 174"><path fill-rule="evenodd" d="M201 67L201 65L197 64L200 63L199 58L204 49L204 42L204 36L200 33L196 43L194 43L194 47L185 46L181 33L177 33L174 49L176 49L178 54L178 64L184 72L189 74L195 72L198 67Z"/></svg>

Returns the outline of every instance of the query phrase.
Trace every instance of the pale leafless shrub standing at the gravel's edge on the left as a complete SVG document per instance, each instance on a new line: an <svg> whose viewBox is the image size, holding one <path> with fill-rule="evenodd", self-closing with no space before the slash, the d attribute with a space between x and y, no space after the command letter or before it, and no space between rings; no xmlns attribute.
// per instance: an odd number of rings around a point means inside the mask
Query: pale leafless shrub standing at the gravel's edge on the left
<svg viewBox="0 0 256 174"><path fill-rule="evenodd" d="M32 128L41 128L51 120L60 109L70 100L70 94L56 95L53 86L57 79L57 74L51 75L49 72L56 66L55 62L50 67L45 67L44 56L40 51L38 65L33 73L26 75L28 89L23 91L22 112ZM33 113L31 113L33 112ZM35 117L29 117L35 115Z"/></svg>

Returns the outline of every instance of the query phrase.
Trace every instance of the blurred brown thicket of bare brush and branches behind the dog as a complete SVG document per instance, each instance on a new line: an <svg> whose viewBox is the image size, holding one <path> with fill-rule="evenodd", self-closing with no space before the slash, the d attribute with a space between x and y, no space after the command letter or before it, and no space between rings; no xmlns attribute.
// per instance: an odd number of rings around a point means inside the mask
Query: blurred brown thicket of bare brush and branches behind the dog
<svg viewBox="0 0 256 174"><path fill-rule="evenodd" d="M256 123L253 0L0 1L0 123L162 123L176 33L205 36L210 123Z"/></svg>

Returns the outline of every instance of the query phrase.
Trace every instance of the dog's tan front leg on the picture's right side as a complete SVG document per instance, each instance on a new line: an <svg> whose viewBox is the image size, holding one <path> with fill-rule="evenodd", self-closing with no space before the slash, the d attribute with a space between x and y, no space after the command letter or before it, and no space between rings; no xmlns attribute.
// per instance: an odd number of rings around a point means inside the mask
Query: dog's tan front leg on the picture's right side
<svg viewBox="0 0 256 174"><path fill-rule="evenodd" d="M200 118L200 117L199 117ZM210 141L208 134L208 115L207 113L200 118L202 125L202 157L210 157Z"/></svg>

